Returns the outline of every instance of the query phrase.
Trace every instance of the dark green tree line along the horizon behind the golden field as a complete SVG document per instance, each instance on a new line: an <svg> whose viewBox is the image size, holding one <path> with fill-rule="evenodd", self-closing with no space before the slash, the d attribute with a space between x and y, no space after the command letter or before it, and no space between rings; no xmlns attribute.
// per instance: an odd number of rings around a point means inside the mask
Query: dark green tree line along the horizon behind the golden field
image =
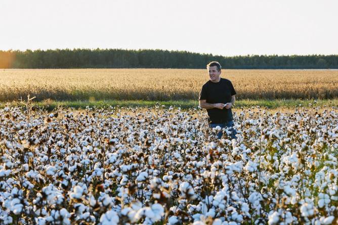
<svg viewBox="0 0 338 225"><path fill-rule="evenodd" d="M338 69L338 55L218 56L187 51L56 49L0 51L0 68L191 68L218 61L227 69Z"/></svg>

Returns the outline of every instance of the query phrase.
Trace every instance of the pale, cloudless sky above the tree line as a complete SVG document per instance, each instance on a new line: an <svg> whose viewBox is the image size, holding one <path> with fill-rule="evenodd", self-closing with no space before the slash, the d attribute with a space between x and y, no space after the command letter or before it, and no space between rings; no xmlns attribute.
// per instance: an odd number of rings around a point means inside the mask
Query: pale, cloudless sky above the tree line
<svg viewBox="0 0 338 225"><path fill-rule="evenodd" d="M338 54L337 0L0 0L0 50Z"/></svg>

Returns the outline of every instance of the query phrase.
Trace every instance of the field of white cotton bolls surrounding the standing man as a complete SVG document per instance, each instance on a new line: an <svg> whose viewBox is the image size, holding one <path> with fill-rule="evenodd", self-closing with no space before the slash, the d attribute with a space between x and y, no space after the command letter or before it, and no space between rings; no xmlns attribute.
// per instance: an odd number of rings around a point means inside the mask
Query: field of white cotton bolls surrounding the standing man
<svg viewBox="0 0 338 225"><path fill-rule="evenodd" d="M28 110L27 110L28 108ZM1 224L337 224L338 110L0 109Z"/></svg>

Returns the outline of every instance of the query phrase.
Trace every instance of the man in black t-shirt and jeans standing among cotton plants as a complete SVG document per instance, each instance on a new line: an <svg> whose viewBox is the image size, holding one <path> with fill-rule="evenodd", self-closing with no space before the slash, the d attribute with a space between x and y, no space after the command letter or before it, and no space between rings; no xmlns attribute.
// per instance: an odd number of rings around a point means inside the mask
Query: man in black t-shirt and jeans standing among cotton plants
<svg viewBox="0 0 338 225"><path fill-rule="evenodd" d="M230 80L221 78L221 65L218 62L210 62L206 65L210 80L202 86L199 93L199 106L206 109L210 128L220 126L229 127L231 138L236 138L236 130L233 128L233 116L231 107L235 103L235 89ZM221 139L223 132L217 134Z"/></svg>

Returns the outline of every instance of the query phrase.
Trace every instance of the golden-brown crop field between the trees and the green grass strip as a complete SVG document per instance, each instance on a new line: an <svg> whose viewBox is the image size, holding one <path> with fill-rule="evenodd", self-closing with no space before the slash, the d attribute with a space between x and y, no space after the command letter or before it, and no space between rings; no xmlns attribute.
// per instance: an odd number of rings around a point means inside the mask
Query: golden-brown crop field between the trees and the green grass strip
<svg viewBox="0 0 338 225"><path fill-rule="evenodd" d="M200 69L5 69L0 101L197 99L208 80ZM338 70L222 70L237 99L333 99Z"/></svg>

